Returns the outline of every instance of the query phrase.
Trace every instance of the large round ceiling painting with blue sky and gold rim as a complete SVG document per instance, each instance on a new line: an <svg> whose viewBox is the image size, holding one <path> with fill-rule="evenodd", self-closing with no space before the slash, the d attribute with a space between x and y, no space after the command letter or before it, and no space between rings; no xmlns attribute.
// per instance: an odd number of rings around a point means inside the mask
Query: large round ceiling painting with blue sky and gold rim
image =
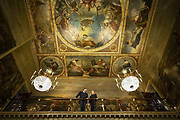
<svg viewBox="0 0 180 120"><path fill-rule="evenodd" d="M98 51L119 36L124 12L120 0L56 0L53 20L58 37L78 51Z"/></svg>

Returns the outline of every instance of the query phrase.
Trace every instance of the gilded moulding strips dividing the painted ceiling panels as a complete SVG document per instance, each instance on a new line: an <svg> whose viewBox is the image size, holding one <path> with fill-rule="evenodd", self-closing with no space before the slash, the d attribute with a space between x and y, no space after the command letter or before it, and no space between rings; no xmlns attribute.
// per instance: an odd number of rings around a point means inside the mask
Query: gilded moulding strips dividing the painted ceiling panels
<svg viewBox="0 0 180 120"><path fill-rule="evenodd" d="M29 0L26 0L26 3L27 3L28 11L30 11L30 6L29 6L29 2L28 1ZM122 3L122 1L123 0L120 0L121 3ZM112 66L114 64L114 61L113 61L114 57L117 57L117 59L119 57L130 57L130 58L133 58L133 59L135 59L136 67L137 67L138 63L140 62L140 60L143 57L143 51L146 48L146 44L145 43L146 43L146 41L147 41L147 39L149 37L149 29L151 29L151 26L152 26L152 21L154 19L154 13L155 13L156 7L157 7L157 1L158 0L153 0L153 2L152 2L152 8L151 8L151 10L149 12L147 26L145 28L145 35L143 36L143 38L141 40L142 47L140 49L140 52L139 53L131 53L131 54L122 54L122 46L123 46L123 42L124 42L124 32L125 32L125 28L126 28L126 18L127 18L127 12L128 12L128 7L129 7L128 5L129 5L130 0L127 0L125 6L123 7L124 9L122 9L123 13L124 13L123 16L122 16L123 20L120 23L120 27L119 27L119 30L117 32L118 34L116 33L116 36L119 35L119 39L121 39L121 40L119 40L119 46L120 47L116 48L116 49L118 49L117 52L115 50L114 51L112 50L113 52L99 52L98 51L99 49L98 50L97 49L96 50L92 50L92 51L82 51L81 50L81 51L78 51L78 52L60 52L59 51L59 49L60 49L59 48L59 43L58 43L58 41L56 39L56 34L57 34L56 33L56 28L57 27L55 27L55 24L54 24L55 21L54 21L54 18L53 18L54 17L53 13L54 13L54 4L55 4L55 2L54 2L54 0L48 0L47 3L48 3L49 14L50 14L50 18L51 18L50 25L51 25L51 30L52 30L52 39L54 41L55 54L44 54L44 53L39 54L37 52L34 52L34 54L36 55L36 57L48 57L48 56L63 57L64 72L65 72L65 76L66 77L68 76L67 75L66 56L110 56L111 57L111 61L110 61L110 66L111 67L110 67L110 70L109 70L109 77L111 77L112 74L114 74L113 73L113 68L112 68ZM53 3L53 5L51 3ZM31 21L32 27L33 27L33 33L35 34L35 38L36 38L36 31L34 29L35 24L34 24L34 21L33 21L33 18L32 18L32 13L29 12L29 14L30 14L30 21ZM120 29L122 29L121 30L122 34L119 33ZM113 37L113 38L115 38L115 37ZM111 40L111 41L114 42L115 40ZM35 46L34 41L33 41L33 45ZM109 47L109 48L112 49L114 47L113 45L114 44L108 44L105 47ZM63 47L64 47L64 51L65 51L67 49L67 46L64 45ZM39 65L40 65L40 62L39 62Z"/></svg>

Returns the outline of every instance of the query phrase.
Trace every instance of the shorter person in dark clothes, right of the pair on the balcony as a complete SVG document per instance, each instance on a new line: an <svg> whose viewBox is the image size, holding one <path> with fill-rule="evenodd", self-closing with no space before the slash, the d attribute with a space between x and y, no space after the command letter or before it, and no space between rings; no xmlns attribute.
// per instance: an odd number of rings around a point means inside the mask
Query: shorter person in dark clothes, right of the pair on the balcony
<svg viewBox="0 0 180 120"><path fill-rule="evenodd" d="M91 91L91 96L90 96L90 100L89 103L91 105L91 111L95 111L96 110L96 100L97 99L97 95L94 92L94 90Z"/></svg>

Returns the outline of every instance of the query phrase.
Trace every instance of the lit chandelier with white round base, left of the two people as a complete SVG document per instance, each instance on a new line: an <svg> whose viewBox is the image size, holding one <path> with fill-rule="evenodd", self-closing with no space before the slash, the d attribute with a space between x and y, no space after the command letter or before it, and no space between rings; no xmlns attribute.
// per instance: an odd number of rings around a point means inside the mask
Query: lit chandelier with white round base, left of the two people
<svg viewBox="0 0 180 120"><path fill-rule="evenodd" d="M45 72L43 72L42 69L34 71L30 78L31 84L34 85L34 88L41 92L54 89L58 84L56 80L57 77L54 77L54 72L50 68L46 69Z"/></svg>

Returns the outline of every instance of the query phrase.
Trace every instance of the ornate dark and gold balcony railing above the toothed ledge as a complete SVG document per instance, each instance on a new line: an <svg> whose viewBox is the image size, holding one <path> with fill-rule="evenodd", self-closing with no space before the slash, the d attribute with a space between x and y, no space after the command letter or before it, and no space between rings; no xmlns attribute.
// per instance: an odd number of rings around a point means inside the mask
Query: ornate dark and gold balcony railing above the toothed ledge
<svg viewBox="0 0 180 120"><path fill-rule="evenodd" d="M30 98L30 99L14 99L4 111L20 112L20 111L80 111L79 100L66 98ZM90 111L90 99L87 99L86 110ZM96 99L95 111L177 111L174 107L167 105L160 99L149 98L131 98L121 99Z"/></svg>

